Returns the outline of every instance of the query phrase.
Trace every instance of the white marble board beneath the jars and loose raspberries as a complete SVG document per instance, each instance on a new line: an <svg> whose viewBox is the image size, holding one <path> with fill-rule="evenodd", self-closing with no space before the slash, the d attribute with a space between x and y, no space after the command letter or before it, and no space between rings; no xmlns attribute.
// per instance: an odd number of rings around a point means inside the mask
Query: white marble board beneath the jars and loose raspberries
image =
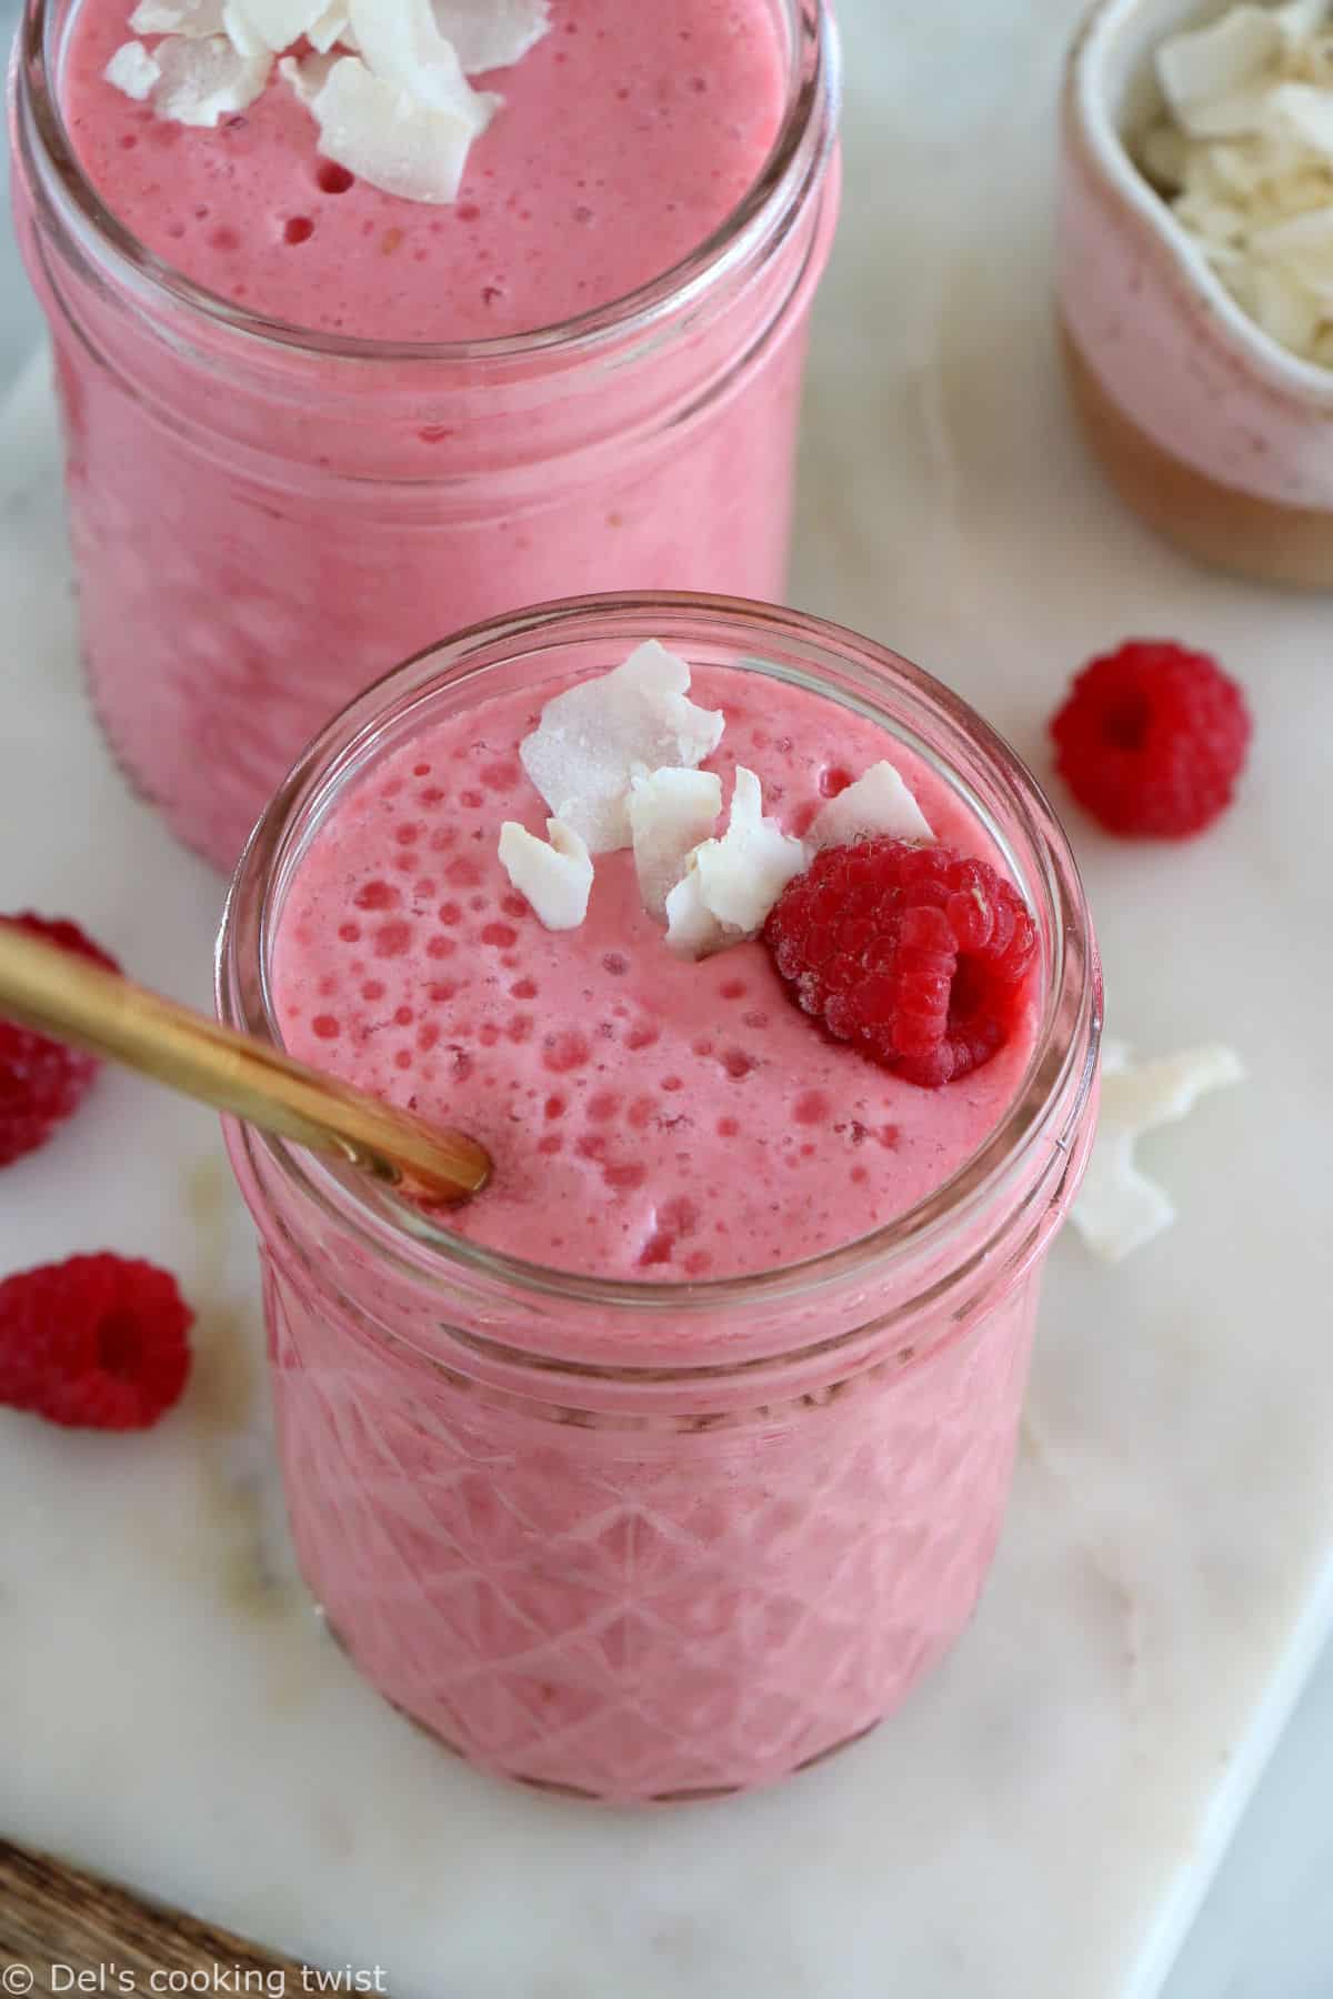
<svg viewBox="0 0 1333 1999"><path fill-rule="evenodd" d="M1071 434L1047 112L1073 0L839 12L851 196L793 598L951 678L1037 764L1065 674L1129 630L1247 680L1255 766L1225 828L1181 852L1075 836L1111 1029L1229 1039L1253 1079L1151 1141L1171 1235L1113 1271L1059 1243L1005 1543L947 1667L785 1789L638 1819L428 1753L308 1615L210 1117L108 1075L6 1175L0 1269L160 1255L200 1307L200 1369L132 1445L0 1413L0 1829L380 1963L400 1999L1149 1999L1329 1623L1327 606L1189 570ZM220 886L88 722L40 372L0 416L0 908L76 912L204 1001ZM1169 1999L1333 1989L1323 1813L1285 1861L1273 1831L1333 1765L1327 1679L1303 1731Z"/></svg>

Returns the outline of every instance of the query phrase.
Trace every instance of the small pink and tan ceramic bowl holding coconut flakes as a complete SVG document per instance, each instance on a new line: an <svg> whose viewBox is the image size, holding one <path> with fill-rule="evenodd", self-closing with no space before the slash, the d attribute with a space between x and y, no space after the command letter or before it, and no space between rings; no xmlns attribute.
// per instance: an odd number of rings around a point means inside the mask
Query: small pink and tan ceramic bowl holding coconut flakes
<svg viewBox="0 0 1333 1999"><path fill-rule="evenodd" d="M1333 588L1333 370L1217 282L1127 140L1161 110L1163 36L1227 0L1101 0L1069 56L1057 290L1087 440L1137 514L1205 562Z"/></svg>

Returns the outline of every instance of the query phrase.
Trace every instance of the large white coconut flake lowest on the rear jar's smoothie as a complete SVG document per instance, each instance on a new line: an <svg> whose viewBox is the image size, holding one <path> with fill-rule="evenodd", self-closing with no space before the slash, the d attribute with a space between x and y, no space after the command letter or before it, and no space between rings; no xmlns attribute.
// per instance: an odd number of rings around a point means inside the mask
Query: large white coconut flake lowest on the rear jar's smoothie
<svg viewBox="0 0 1333 1999"><path fill-rule="evenodd" d="M320 126L320 152L358 180L406 202L452 202L458 196L476 138L470 118L422 104L410 90L386 84L370 74L360 56L340 56L332 64L310 110Z"/></svg>

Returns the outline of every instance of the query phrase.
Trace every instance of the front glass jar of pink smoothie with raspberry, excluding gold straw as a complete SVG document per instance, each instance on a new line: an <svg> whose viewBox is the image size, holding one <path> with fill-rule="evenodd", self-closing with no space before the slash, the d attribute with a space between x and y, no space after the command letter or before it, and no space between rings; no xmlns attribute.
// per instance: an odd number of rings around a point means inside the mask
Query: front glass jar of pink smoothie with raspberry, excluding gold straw
<svg viewBox="0 0 1333 1999"><path fill-rule="evenodd" d="M568 928L578 894L546 906L512 834L502 860L506 822L564 824L570 774L536 788L534 736L648 638L687 662L685 734L719 724L689 768L723 804L709 832L703 798L675 886L713 884L757 780L741 848L789 876L757 932L751 906L703 936L675 888L664 922L638 820L634 846L600 844L596 814L568 842L572 872L598 850ZM590 740L588 716L562 728ZM863 868L905 884L897 942L865 930ZM941 912L989 940L943 988L919 930ZM895 1707L989 1565L1041 1253L1091 1125L1081 892L983 724L795 614L532 614L406 668L316 746L220 966L228 1017L496 1161L448 1227L404 1229L232 1133L298 1553L368 1677L474 1761L612 1799L771 1781ZM871 1059L881 1017L935 1001L943 1067L939 1035Z"/></svg>

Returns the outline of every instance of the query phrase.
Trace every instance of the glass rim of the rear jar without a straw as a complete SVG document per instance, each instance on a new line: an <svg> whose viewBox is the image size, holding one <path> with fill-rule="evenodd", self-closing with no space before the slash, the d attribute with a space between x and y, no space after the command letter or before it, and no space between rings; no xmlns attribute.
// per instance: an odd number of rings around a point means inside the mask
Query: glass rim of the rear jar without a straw
<svg viewBox="0 0 1333 1999"><path fill-rule="evenodd" d="M70 140L54 74L56 0L26 0L14 52L18 130L40 148L46 182L64 220L108 250L122 276L166 304L184 308L258 346L360 364L486 364L542 358L582 360L626 338L656 332L689 314L727 278L749 268L765 244L781 240L789 218L819 186L831 158L841 108L841 56L827 0L779 0L789 16L787 110L767 160L735 208L669 270L592 312L494 340L370 340L318 332L250 312L158 258L106 206Z"/></svg>

